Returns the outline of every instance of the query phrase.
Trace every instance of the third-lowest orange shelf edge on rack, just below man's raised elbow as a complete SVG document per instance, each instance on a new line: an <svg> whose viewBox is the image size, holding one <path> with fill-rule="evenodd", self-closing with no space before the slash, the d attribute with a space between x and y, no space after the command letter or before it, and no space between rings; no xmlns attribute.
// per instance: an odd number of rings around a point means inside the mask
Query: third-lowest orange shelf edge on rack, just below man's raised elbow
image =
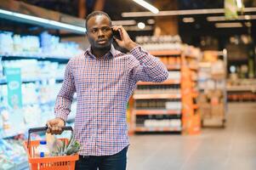
<svg viewBox="0 0 256 170"><path fill-rule="evenodd" d="M134 99L180 99L180 94L134 94Z"/></svg>

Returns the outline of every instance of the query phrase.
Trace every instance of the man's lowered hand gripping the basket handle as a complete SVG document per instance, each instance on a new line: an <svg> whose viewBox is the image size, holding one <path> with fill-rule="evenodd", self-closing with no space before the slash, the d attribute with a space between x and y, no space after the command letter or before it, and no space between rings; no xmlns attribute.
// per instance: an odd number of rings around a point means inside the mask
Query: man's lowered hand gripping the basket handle
<svg viewBox="0 0 256 170"><path fill-rule="evenodd" d="M47 123L48 129L47 133L51 134L61 134L63 132L61 127L65 126L65 121L60 118L54 118L49 120Z"/></svg>

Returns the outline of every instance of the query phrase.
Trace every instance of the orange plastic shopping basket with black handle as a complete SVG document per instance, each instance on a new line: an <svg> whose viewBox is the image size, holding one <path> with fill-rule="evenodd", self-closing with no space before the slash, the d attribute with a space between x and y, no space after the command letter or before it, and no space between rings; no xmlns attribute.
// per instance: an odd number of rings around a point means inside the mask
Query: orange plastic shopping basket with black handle
<svg viewBox="0 0 256 170"><path fill-rule="evenodd" d="M30 128L28 131L27 142L24 142L28 161L30 163L31 170L73 170L75 169L75 163L79 159L78 154L74 156L49 156L49 157L35 157L35 150L40 144L40 140L31 141L31 133L45 132L48 127L36 127ZM72 127L62 127L63 130L70 130L73 133ZM65 144L68 143L68 139L60 139Z"/></svg>

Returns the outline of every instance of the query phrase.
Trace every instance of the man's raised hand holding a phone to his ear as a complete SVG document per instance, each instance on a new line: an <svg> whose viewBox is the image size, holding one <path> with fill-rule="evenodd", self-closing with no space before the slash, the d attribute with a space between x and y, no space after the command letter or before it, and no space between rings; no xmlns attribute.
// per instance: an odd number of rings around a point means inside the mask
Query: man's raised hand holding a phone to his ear
<svg viewBox="0 0 256 170"><path fill-rule="evenodd" d="M112 28L114 31L119 31L120 33L121 40L118 40L115 37L114 38L121 48L125 48L130 51L137 46L137 44L133 40L131 40L127 31L125 31L122 26L112 26Z"/></svg>

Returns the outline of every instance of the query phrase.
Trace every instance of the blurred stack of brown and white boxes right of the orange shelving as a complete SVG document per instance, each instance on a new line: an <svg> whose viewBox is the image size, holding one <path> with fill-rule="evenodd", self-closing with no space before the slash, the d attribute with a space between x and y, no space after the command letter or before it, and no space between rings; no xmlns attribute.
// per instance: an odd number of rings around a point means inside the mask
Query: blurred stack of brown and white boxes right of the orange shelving
<svg viewBox="0 0 256 170"><path fill-rule="evenodd" d="M201 93L197 101L203 126L215 120L214 124L225 123L225 56L218 51L204 52L203 62L199 64L198 88ZM216 121L217 120L217 121ZM212 123L209 124L213 126Z"/></svg>

